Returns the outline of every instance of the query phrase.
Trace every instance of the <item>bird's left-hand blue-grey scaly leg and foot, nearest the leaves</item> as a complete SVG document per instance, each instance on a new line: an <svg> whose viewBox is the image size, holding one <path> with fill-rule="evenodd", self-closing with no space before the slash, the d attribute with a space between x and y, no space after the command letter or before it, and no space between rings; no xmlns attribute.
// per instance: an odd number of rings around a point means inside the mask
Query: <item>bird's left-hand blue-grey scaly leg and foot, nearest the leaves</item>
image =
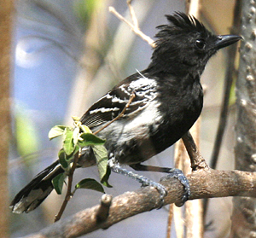
<svg viewBox="0 0 256 238"><path fill-rule="evenodd" d="M166 192L166 188L162 184L156 183L153 180L149 179L148 177L138 175L132 171L128 171L128 170L122 168L119 165L119 162L116 161L114 158L108 160L108 166L110 167L111 171L113 171L113 172L125 175L126 177L131 177L132 179L136 180L137 182L142 183L143 186L152 186L155 189L157 189L158 192L160 193L160 207L163 206L164 198L165 198L167 192Z"/></svg>

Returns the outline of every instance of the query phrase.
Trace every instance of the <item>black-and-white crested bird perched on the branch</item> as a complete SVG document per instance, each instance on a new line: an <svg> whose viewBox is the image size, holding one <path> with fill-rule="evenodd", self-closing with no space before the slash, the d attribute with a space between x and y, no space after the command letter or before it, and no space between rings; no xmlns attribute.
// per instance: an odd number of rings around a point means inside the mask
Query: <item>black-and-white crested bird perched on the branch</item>
<svg viewBox="0 0 256 238"><path fill-rule="evenodd" d="M203 107L200 78L207 61L218 49L235 44L241 37L213 34L193 15L183 12L166 15L166 19L167 24L157 26L159 32L148 67L109 90L84 113L80 122L92 132L103 128L97 136L106 139L111 171L153 186L161 198L166 195L163 185L128 171L123 165L136 171L170 173L183 184L185 201L189 183L182 171L142 163L172 146L194 125ZM109 124L128 103L125 113ZM96 165L92 148L83 148L78 165ZM52 179L61 172L56 160L38 173L16 194L10 204L12 212L31 212L38 207L54 189Z"/></svg>

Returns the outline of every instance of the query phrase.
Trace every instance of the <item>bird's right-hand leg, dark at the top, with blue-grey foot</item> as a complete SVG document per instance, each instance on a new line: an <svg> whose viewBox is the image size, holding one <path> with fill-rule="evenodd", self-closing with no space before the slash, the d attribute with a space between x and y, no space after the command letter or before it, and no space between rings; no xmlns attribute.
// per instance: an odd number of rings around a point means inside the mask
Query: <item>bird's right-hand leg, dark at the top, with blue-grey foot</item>
<svg viewBox="0 0 256 238"><path fill-rule="evenodd" d="M157 167L151 165L142 165L140 163L135 165L130 165L136 171L158 171L158 172L165 172L168 173L168 177L177 178L177 180L183 184L184 187L184 194L182 198L182 205L189 200L190 195L190 187L189 187L189 180L187 177L184 176L183 171L179 169L171 169L166 167ZM181 206L182 206L181 205Z"/></svg>

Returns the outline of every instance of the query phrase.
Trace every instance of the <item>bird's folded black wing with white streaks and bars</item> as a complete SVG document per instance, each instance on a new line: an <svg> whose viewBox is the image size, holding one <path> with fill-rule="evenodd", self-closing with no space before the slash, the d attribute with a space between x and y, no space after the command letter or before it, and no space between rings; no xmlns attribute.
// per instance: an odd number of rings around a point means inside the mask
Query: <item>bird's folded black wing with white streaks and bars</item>
<svg viewBox="0 0 256 238"><path fill-rule="evenodd" d="M157 96L155 80L146 78L142 73L131 77L126 78L121 84L102 96L84 113L80 121L91 130L96 126L108 123L122 112L130 101L132 93L134 98L130 106L126 108L123 117L132 118L144 107L147 107L148 103Z"/></svg>

